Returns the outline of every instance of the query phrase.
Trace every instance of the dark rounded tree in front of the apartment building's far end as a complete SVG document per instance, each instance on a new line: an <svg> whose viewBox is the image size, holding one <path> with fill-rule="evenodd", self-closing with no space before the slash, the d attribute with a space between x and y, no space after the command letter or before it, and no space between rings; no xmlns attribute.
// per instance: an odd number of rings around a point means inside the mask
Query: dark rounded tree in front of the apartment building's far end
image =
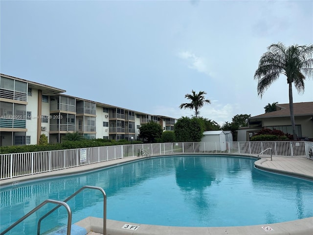
<svg viewBox="0 0 313 235"><path fill-rule="evenodd" d="M162 127L160 124L150 121L139 127L138 137L145 142L153 143L157 138L162 137Z"/></svg>

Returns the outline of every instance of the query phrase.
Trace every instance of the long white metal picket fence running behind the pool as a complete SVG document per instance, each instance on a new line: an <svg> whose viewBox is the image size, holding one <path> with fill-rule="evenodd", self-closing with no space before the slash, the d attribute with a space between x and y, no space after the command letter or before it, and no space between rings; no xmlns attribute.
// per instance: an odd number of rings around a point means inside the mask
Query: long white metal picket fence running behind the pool
<svg viewBox="0 0 313 235"><path fill-rule="evenodd" d="M226 153L258 155L261 157L307 157L312 158L313 142L307 141L250 141L250 142L174 142L113 145L44 152L14 153L0 155L0 180L32 175L84 164L139 156L143 150L151 156L166 154Z"/></svg>

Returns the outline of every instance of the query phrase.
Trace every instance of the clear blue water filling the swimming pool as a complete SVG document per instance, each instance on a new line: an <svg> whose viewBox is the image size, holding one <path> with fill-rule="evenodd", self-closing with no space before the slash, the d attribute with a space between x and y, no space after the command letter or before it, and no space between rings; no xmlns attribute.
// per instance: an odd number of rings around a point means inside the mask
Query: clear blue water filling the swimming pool
<svg viewBox="0 0 313 235"><path fill-rule="evenodd" d="M46 199L65 200L83 186L107 194L107 218L168 226L246 226L313 216L313 182L254 168L254 159L175 156L123 164L91 173L36 181L0 191L1 231ZM75 223L103 217L103 196L85 189L68 202ZM33 234L46 205L12 230ZM42 232L67 223L64 208L42 223ZM21 232L22 231L22 232Z"/></svg>

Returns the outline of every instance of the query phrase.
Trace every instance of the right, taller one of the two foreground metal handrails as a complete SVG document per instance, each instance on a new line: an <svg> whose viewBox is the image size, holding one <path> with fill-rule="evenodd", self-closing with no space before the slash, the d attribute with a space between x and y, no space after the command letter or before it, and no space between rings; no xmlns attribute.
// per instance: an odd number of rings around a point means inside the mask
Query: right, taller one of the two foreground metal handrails
<svg viewBox="0 0 313 235"><path fill-rule="evenodd" d="M103 188L96 187L96 186L84 186L80 189L78 189L76 192L74 192L72 195L70 195L67 199L65 199L63 202L67 202L70 199L72 199L74 196L76 196L80 191L84 190L85 188L91 188L91 189L98 189L102 192L103 194L103 234L106 234L107 232L107 195L106 192L103 190ZM61 205L53 208L51 211L47 212L45 215L43 215L39 220L38 220L38 226L37 226L37 235L40 235L40 224L41 221L47 217L49 214L51 214L53 211L57 210ZM69 235L69 234L68 234Z"/></svg>

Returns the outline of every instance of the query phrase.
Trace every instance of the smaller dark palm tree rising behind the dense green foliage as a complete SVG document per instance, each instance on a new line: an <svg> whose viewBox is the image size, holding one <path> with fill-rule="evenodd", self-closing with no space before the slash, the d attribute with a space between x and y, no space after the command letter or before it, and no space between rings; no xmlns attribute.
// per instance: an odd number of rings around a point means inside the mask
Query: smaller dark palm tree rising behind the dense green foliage
<svg viewBox="0 0 313 235"><path fill-rule="evenodd" d="M200 114L199 109L205 104L205 103L211 103L209 99L205 99L204 94L205 92L200 91L198 94L192 90L192 94L185 94L185 98L191 100L191 103L183 103L179 105L179 108L182 109L195 109L196 118Z"/></svg>

